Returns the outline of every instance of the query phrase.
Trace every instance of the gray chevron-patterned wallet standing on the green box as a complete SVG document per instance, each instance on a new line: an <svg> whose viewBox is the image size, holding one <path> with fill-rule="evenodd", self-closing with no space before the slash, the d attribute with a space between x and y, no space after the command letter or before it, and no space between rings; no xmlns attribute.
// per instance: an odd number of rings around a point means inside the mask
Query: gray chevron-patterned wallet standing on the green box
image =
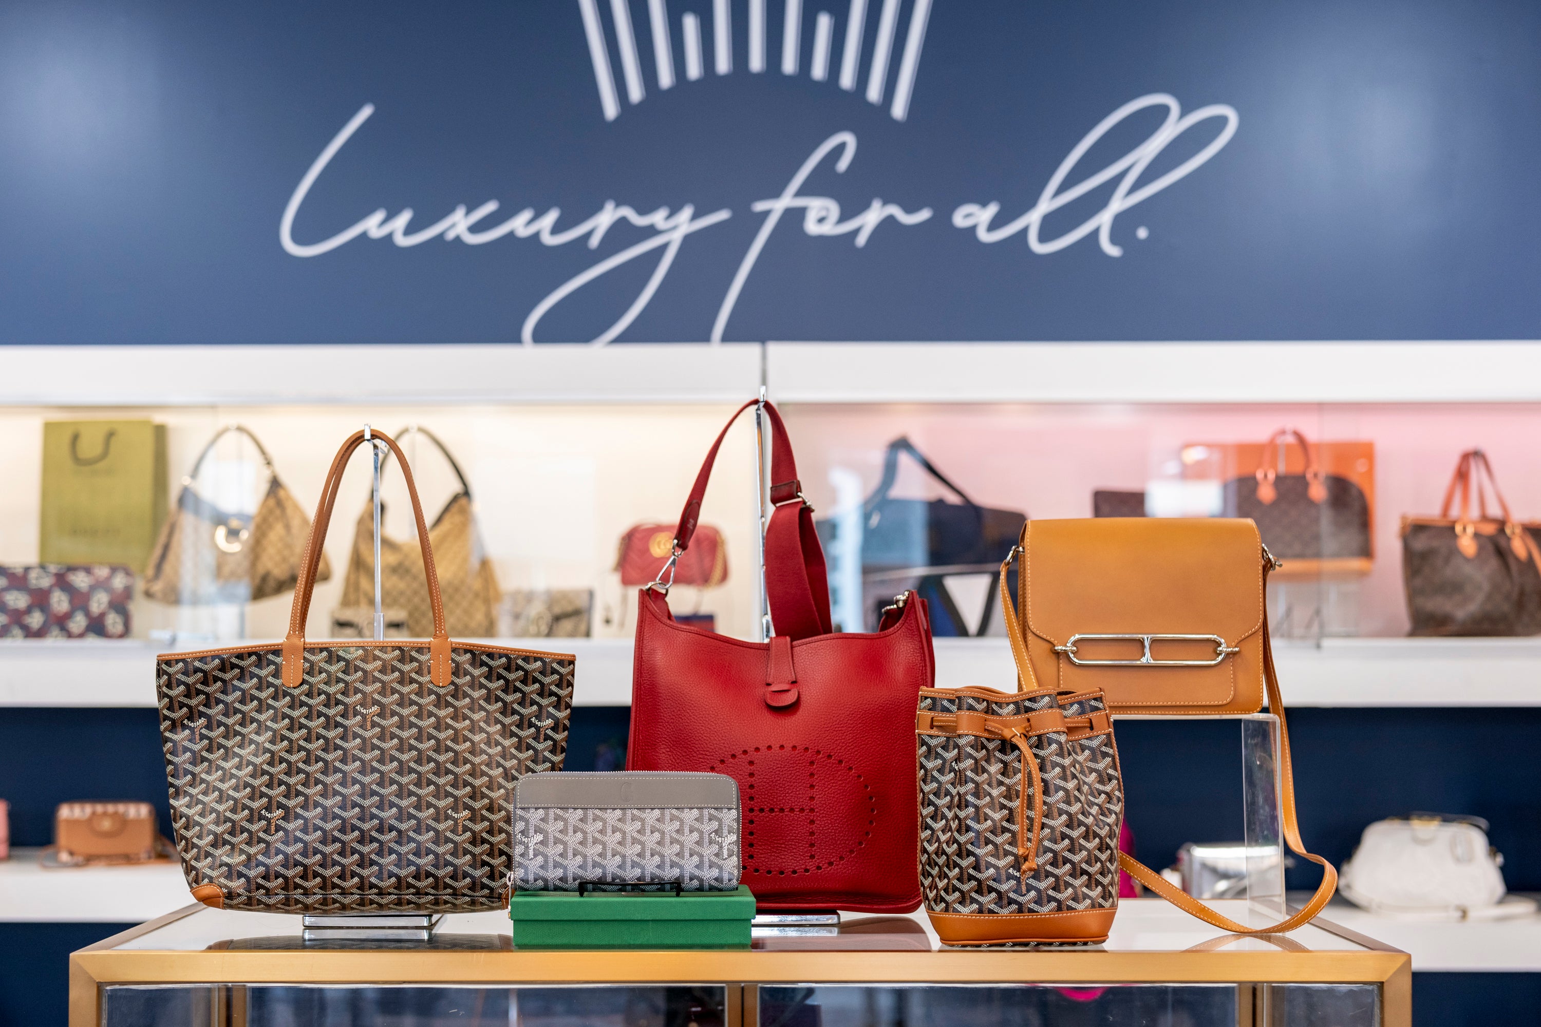
<svg viewBox="0 0 1541 1027"><path fill-rule="evenodd" d="M519 892L732 892L741 870L738 782L643 770L525 774L515 788L513 838Z"/></svg>

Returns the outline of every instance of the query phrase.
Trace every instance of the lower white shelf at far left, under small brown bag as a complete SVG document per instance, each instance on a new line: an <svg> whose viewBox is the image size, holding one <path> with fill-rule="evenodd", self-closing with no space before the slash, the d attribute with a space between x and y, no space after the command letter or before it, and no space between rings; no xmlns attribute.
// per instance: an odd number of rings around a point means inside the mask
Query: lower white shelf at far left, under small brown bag
<svg viewBox="0 0 1541 1027"><path fill-rule="evenodd" d="M40 851L0 861L0 924L139 924L191 898L179 862L45 870Z"/></svg>

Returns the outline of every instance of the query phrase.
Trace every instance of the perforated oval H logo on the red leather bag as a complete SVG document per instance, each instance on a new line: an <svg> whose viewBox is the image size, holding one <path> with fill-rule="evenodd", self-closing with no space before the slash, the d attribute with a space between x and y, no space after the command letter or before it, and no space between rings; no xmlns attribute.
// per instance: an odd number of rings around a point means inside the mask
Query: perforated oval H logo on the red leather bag
<svg viewBox="0 0 1541 1027"><path fill-rule="evenodd" d="M877 830L872 784L820 748L754 745L723 756L713 770L738 781L744 873L789 878L829 870L855 856Z"/></svg>

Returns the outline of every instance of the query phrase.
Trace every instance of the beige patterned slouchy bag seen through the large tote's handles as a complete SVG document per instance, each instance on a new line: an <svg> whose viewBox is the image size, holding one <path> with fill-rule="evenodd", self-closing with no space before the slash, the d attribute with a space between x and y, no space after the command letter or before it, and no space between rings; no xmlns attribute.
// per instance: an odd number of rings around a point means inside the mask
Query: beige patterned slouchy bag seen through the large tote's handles
<svg viewBox="0 0 1541 1027"><path fill-rule="evenodd" d="M407 428L419 433L444 454L461 488L435 517L428 534L438 556L439 590L444 616L452 634L462 637L490 637L498 628L498 576L492 560L482 551L481 534L472 508L472 487L461 465L448 448L427 428ZM382 467L384 470L384 467ZM418 547L381 533L381 604L407 611L407 624L413 634L427 634L433 616L428 602L428 582L422 576ZM374 602L374 510L365 505L353 534L353 553L348 556L348 573L342 579L339 607L368 607Z"/></svg>

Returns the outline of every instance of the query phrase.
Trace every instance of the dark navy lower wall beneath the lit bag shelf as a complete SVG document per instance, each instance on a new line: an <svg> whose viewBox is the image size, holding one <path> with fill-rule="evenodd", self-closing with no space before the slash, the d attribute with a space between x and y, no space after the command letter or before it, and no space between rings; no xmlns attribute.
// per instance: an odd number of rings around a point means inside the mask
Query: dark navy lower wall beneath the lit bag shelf
<svg viewBox="0 0 1541 1027"><path fill-rule="evenodd" d="M627 724L626 708L575 708L567 768L624 765ZM1384 816L1475 813L1492 821L1509 887L1541 890L1541 818L1530 776L1516 771L1541 764L1541 710L1302 708L1290 728L1301 830L1318 853L1341 864ZM1119 724L1142 859L1162 867L1185 841L1239 838L1239 738L1222 721ZM68 799L145 799L165 818L154 710L0 708L0 796L18 845L48 844L52 808ZM1291 888L1313 885L1307 868L1291 871ZM63 1024L68 953L120 928L0 925L0 1024ZM1416 1022L1518 1022L1498 1013L1533 1009L1538 987L1541 975L1418 975Z"/></svg>

